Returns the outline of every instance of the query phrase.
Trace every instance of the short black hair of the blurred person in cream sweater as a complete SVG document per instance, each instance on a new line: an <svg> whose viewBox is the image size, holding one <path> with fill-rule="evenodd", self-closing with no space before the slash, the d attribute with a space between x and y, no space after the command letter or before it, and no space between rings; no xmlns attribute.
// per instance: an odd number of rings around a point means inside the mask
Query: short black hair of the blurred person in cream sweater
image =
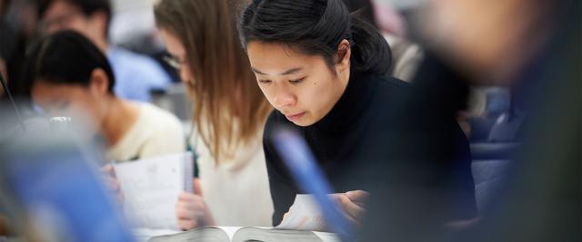
<svg viewBox="0 0 582 242"><path fill-rule="evenodd" d="M27 54L26 72L32 73L27 86L34 82L78 84L89 86L91 74L97 68L109 79L107 92L114 95L115 77L111 65L95 44L82 34L64 30L50 34L34 44Z"/></svg>

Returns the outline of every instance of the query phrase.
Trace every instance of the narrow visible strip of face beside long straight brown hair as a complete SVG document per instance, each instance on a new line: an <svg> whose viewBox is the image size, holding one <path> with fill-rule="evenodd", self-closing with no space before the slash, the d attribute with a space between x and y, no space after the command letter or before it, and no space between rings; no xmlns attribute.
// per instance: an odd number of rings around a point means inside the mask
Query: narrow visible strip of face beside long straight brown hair
<svg viewBox="0 0 582 242"><path fill-rule="evenodd" d="M168 63L176 68L178 73L180 73L180 79L182 82L193 82L194 78L186 61L186 49L184 48L184 44L182 44L174 34L170 34L163 29L160 30L160 33L166 43L167 52L172 55L167 60Z"/></svg>

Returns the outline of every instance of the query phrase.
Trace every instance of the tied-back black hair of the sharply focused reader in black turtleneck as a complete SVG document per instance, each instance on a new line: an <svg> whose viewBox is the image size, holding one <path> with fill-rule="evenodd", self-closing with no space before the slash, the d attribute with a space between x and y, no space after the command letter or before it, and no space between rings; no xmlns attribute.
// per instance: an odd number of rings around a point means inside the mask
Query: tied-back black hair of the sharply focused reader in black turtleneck
<svg viewBox="0 0 582 242"><path fill-rule="evenodd" d="M241 42L280 43L301 53L321 55L333 66L344 39L351 63L363 73L386 73L391 53L384 37L366 21L350 15L340 0L253 0L239 23Z"/></svg>

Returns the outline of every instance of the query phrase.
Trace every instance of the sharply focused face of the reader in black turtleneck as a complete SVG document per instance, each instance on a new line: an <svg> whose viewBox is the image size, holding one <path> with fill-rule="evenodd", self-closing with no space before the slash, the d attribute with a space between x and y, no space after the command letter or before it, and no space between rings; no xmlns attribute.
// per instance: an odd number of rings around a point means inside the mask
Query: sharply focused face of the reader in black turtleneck
<svg viewBox="0 0 582 242"><path fill-rule="evenodd" d="M298 126L323 119L346 90L349 53L332 71L322 56L298 53L285 44L252 41L246 50L268 102Z"/></svg>

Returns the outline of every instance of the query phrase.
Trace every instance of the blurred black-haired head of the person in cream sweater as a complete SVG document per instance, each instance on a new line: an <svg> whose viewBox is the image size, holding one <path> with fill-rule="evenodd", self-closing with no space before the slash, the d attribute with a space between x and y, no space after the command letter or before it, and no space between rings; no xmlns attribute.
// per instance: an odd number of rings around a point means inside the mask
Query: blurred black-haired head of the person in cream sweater
<svg viewBox="0 0 582 242"><path fill-rule="evenodd" d="M105 55L83 35L56 32L28 55L33 101L51 116L72 116L101 128L115 78Z"/></svg>

